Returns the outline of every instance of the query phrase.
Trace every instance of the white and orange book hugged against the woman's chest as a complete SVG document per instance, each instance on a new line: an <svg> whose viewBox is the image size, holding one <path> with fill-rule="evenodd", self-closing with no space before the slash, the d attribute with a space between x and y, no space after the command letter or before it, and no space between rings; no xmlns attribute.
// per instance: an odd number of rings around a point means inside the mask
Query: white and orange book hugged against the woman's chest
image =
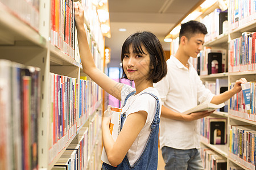
<svg viewBox="0 0 256 170"><path fill-rule="evenodd" d="M117 136L121 130L121 112L122 112L122 109L111 107L111 121L109 125L109 130L114 141L117 140ZM111 165L109 163L108 156L106 155L106 151L104 147L102 149L101 160L102 162L105 162Z"/></svg>

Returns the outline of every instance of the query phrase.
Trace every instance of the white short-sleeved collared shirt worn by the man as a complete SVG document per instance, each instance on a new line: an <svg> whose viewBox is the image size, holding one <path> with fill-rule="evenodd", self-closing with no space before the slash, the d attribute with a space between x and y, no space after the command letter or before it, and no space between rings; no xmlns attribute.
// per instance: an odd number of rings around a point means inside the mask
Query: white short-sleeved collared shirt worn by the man
<svg viewBox="0 0 256 170"><path fill-rule="evenodd" d="M182 113L203 101L213 98L212 92L205 88L193 65L189 69L177 58L167 60L167 75L154 84L164 107ZM177 149L200 147L200 120L180 121L160 118L160 147L168 146Z"/></svg>

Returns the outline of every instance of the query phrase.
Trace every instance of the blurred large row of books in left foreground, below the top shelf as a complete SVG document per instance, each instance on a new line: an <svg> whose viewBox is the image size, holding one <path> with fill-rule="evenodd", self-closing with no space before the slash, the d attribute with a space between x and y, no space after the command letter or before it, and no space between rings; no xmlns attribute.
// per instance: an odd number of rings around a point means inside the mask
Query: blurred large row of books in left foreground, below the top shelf
<svg viewBox="0 0 256 170"><path fill-rule="evenodd" d="M0 59L0 111L0 169L37 169L38 67Z"/></svg>

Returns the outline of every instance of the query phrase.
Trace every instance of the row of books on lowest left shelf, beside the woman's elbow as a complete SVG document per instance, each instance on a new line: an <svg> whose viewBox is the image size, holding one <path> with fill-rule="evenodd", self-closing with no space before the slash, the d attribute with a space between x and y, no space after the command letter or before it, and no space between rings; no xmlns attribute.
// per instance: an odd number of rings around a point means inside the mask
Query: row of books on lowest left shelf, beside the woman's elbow
<svg viewBox="0 0 256 170"><path fill-rule="evenodd" d="M88 127L82 127L52 169L98 169L101 154L101 117L96 113Z"/></svg>

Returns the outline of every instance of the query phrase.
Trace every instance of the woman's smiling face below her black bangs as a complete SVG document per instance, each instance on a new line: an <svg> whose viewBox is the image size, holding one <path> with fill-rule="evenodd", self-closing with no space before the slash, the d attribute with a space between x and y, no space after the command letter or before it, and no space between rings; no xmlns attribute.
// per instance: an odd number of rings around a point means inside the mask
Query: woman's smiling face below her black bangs
<svg viewBox="0 0 256 170"><path fill-rule="evenodd" d="M129 80L142 80L148 78L150 71L150 54L142 45L144 53L134 53L133 46L129 46L129 52L123 57L123 71Z"/></svg>

